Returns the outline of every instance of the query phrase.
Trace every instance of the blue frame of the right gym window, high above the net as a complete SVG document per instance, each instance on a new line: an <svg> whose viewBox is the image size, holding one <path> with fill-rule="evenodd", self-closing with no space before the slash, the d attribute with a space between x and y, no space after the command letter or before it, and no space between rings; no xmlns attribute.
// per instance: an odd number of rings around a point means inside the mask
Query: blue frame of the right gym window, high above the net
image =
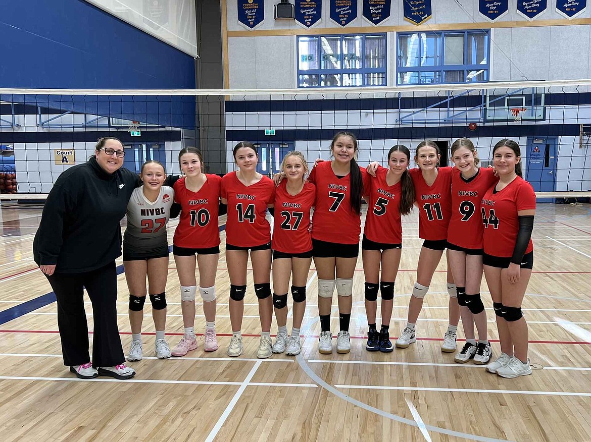
<svg viewBox="0 0 591 442"><path fill-rule="evenodd" d="M400 38L401 37L411 37L413 34L426 34L426 35L437 35L438 39L438 47L437 47L437 55L439 57L439 64L432 65L432 66L400 66L401 54L400 51ZM457 36L463 34L463 54L462 60L463 64L445 64L445 38L446 35ZM471 64L467 63L468 60L468 45L469 40L468 36L470 34L481 34L485 35L485 51L486 51L486 64ZM423 53L423 45L418 44L418 53L417 58L421 60ZM471 83L486 83L487 81L491 81L491 30L457 30L457 31L416 31L416 32L397 32L396 35L396 54L395 54L395 67L396 67L396 84L397 86L407 86L413 84L454 84L454 83L461 83L461 84L471 84ZM476 76L474 77L475 80L467 81L466 78L470 71L480 71L483 70L486 72L485 78L483 80L477 80ZM446 71L464 71L464 81L453 81L453 82L446 82L445 81L445 73ZM400 81L400 74L401 73L414 73L418 76L417 83L401 83ZM440 82L439 83L421 83L420 77L421 73L436 73L439 74Z"/></svg>

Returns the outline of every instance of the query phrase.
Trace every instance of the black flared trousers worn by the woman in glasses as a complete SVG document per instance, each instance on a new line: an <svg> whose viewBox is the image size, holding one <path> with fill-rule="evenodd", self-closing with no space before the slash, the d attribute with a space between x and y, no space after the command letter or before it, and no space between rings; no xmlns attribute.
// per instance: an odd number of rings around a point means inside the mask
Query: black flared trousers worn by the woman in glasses
<svg viewBox="0 0 591 442"><path fill-rule="evenodd" d="M88 323L84 289L92 302L95 324L92 365L111 367L125 362L117 327L117 271L115 261L85 273L54 273L47 276L57 298L57 326L60 330L64 365L90 361Z"/></svg>

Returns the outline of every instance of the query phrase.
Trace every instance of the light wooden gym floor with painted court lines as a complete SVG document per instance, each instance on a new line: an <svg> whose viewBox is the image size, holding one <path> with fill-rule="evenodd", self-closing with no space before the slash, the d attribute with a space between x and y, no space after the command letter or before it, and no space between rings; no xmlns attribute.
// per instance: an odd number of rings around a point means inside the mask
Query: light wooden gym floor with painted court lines
<svg viewBox="0 0 591 442"><path fill-rule="evenodd" d="M499 378L472 363L454 364L453 353L441 353L447 326L444 260L418 320L419 339L408 349L389 354L365 350L360 257L349 354L317 352L320 326L312 265L301 355L256 359L260 328L249 281L242 329L245 349L241 357L228 358L229 280L222 251L216 281L217 352L204 353L200 338L199 349L189 357L155 359L147 303L144 360L129 364L137 369L137 376L131 381L80 381L63 366L56 303L32 260L40 215L40 205L5 201L0 210L0 435L4 441L591 440L589 205L538 206L534 274L524 302L534 372L518 379ZM168 227L169 243L176 223L173 220ZM416 214L404 218L403 228L393 338L406 320L421 245ZM131 336L125 275L119 274L118 281L119 330L127 352ZM171 256L166 330L171 347L183 332L178 290ZM484 281L482 293L498 354L492 302ZM204 317L199 299L197 303L196 332L201 333ZM90 303L87 306L90 314ZM333 330L337 323L335 306ZM275 324L271 332L277 332ZM458 336L463 337L461 326Z"/></svg>

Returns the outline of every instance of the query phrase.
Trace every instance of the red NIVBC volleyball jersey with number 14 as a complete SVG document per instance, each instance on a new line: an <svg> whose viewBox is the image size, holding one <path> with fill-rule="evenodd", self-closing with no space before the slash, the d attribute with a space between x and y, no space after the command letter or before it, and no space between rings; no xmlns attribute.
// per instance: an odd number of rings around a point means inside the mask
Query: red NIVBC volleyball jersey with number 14
<svg viewBox="0 0 591 442"><path fill-rule="evenodd" d="M275 184L263 176L261 181L245 186L236 172L222 178L222 198L228 200L226 243L254 247L271 242L271 224L265 218L267 205L273 204Z"/></svg>

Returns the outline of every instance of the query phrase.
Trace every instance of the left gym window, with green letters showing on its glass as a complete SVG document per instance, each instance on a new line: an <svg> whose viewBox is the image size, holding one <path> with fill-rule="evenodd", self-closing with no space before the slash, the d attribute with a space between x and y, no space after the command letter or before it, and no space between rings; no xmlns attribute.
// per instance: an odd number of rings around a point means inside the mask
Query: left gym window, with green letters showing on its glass
<svg viewBox="0 0 591 442"><path fill-rule="evenodd" d="M386 86L386 35L297 38L298 87Z"/></svg>

